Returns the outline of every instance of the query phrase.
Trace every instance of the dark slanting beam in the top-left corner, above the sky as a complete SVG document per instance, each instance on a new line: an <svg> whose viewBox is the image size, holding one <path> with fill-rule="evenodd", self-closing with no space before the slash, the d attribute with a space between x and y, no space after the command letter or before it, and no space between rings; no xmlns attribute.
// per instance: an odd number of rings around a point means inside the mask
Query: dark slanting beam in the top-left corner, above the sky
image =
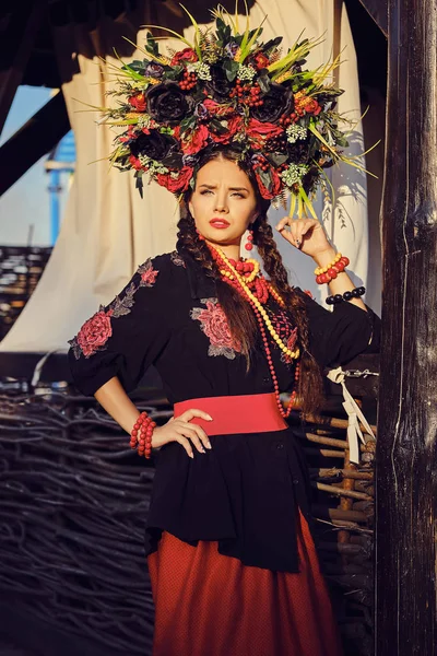
<svg viewBox="0 0 437 656"><path fill-rule="evenodd" d="M45 9L45 0L16 2L0 35L0 133L23 79Z"/></svg>

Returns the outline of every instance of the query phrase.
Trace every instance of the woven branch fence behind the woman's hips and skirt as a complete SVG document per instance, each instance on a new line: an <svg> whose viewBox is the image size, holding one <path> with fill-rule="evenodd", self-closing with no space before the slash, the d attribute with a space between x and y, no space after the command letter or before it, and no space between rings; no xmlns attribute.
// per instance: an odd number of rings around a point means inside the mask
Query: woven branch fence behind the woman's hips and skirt
<svg viewBox="0 0 437 656"><path fill-rule="evenodd" d="M164 399L141 398L132 396L140 410L168 420ZM303 440L322 569L346 653L370 656L374 442L351 466L345 420L312 419ZM150 655L153 635L143 550L153 468L128 441L93 398L50 388L0 396L0 594L107 656Z"/></svg>

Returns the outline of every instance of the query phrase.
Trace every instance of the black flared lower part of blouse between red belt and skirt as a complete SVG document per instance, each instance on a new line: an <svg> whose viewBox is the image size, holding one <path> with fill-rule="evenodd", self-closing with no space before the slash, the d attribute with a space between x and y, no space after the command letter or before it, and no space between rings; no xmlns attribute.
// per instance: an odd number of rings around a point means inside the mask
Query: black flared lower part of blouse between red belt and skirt
<svg viewBox="0 0 437 656"><path fill-rule="evenodd" d="M145 530L146 555L165 530L189 544L215 540L245 565L299 572L296 513L311 526L308 472L296 429L214 435L187 456L178 443L157 455Z"/></svg>

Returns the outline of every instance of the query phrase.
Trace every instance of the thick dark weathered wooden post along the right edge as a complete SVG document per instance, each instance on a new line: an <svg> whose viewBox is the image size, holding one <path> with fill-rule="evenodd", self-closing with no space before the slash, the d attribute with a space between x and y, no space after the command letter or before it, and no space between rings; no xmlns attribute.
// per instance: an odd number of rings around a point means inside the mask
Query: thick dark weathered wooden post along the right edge
<svg viewBox="0 0 437 656"><path fill-rule="evenodd" d="M437 5L389 0L376 654L435 656Z"/></svg>

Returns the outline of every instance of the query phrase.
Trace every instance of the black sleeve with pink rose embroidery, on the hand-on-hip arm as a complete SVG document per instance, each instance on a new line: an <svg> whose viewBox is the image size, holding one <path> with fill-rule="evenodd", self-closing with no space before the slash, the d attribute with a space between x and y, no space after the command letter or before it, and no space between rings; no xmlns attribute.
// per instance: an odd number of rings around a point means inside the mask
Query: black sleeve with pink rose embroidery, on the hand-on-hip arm
<svg viewBox="0 0 437 656"><path fill-rule="evenodd" d="M168 292L165 256L141 265L125 289L69 340L68 360L76 388L93 396L117 376L129 393L169 339L163 308Z"/></svg>

